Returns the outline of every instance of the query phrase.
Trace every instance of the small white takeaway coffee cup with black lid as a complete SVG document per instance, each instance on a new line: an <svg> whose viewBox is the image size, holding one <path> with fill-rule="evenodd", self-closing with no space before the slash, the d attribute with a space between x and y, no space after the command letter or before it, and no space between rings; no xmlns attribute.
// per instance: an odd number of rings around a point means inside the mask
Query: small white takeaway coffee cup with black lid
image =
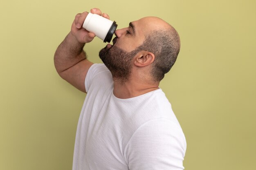
<svg viewBox="0 0 256 170"><path fill-rule="evenodd" d="M103 42L110 42L117 29L117 24L115 21L108 20L100 15L88 13L83 22L83 28L94 33Z"/></svg>

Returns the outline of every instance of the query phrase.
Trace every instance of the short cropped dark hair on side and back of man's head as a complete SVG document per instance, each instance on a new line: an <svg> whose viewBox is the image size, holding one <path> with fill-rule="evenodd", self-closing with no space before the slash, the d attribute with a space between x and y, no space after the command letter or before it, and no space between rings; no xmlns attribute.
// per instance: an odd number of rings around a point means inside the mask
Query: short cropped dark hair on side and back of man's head
<svg viewBox="0 0 256 170"><path fill-rule="evenodd" d="M180 37L173 27L155 30L146 36L138 49L149 51L155 55L151 74L153 79L159 82L171 70L177 59L180 52Z"/></svg>

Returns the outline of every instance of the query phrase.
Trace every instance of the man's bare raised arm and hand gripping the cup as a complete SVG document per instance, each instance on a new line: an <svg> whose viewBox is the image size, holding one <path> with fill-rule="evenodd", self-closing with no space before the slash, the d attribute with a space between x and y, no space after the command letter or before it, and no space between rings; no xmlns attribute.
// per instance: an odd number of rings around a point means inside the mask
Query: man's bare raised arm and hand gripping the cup
<svg viewBox="0 0 256 170"><path fill-rule="evenodd" d="M101 11L96 8L91 9L90 12L102 15ZM82 27L87 15L88 12L76 15L70 33L61 42L54 54L54 65L58 74L83 92L86 92L85 76L93 64L86 59L83 47L95 37L94 33L88 32ZM102 16L109 19L109 16L105 13Z"/></svg>

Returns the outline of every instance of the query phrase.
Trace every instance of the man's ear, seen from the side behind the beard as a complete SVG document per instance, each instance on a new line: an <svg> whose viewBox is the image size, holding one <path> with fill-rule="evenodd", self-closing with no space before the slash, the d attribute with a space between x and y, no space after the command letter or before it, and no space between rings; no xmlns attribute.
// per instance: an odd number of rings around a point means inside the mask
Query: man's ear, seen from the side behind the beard
<svg viewBox="0 0 256 170"><path fill-rule="evenodd" d="M153 63L155 60L155 55L148 51L140 51L134 57L134 65L138 67L148 66L149 64Z"/></svg>

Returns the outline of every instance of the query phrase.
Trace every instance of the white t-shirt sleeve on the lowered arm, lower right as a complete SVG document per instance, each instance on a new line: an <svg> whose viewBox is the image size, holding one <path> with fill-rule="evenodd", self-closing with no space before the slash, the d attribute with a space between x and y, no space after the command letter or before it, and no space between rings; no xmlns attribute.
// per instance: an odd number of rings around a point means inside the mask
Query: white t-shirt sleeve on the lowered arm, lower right
<svg viewBox="0 0 256 170"><path fill-rule="evenodd" d="M185 151L180 126L161 118L140 126L124 153L130 170L183 170Z"/></svg>

